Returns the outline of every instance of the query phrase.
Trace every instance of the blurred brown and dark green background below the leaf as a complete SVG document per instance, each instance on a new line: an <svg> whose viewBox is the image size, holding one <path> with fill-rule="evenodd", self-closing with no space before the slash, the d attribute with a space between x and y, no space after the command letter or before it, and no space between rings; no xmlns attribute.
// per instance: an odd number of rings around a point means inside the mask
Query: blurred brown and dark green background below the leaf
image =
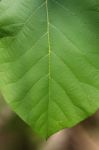
<svg viewBox="0 0 99 150"><path fill-rule="evenodd" d="M99 150L99 112L46 141L11 111L0 96L0 150Z"/></svg>

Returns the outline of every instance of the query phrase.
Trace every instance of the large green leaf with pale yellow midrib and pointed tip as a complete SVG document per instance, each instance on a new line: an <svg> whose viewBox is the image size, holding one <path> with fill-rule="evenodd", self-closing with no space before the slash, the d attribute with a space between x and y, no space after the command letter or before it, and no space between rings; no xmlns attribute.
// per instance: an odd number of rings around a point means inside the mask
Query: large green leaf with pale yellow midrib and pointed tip
<svg viewBox="0 0 99 150"><path fill-rule="evenodd" d="M99 108L99 1L1 0L0 89L43 137Z"/></svg>

